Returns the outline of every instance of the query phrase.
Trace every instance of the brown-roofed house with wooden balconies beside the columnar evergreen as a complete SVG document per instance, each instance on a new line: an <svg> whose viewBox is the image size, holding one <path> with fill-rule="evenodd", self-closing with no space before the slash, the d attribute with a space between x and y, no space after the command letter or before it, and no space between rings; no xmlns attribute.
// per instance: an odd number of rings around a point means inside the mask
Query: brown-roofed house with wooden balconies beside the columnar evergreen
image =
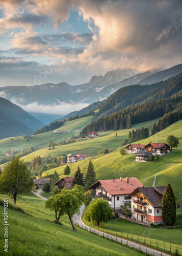
<svg viewBox="0 0 182 256"><path fill-rule="evenodd" d="M155 225L163 223L162 198L165 188L166 186L136 188L127 197L132 204L132 219Z"/></svg>

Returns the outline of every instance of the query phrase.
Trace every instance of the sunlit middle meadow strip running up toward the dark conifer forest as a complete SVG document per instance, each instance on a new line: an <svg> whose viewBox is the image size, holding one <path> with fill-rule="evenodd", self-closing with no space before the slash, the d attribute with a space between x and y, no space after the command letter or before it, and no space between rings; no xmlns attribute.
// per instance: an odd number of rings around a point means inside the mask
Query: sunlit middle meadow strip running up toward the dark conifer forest
<svg viewBox="0 0 182 256"><path fill-rule="evenodd" d="M132 129L137 129L141 126L148 127L149 130L151 130L151 126L154 121L157 121L158 119L143 122L140 124L136 124L132 126ZM86 154L88 157L97 156L98 152L102 150L102 148L117 148L119 147L120 143L125 140L125 138L128 137L129 131L132 129L125 129L125 130L118 130L118 131L106 131L98 133L99 137L95 139L83 139L81 141L76 141L71 144L67 145L61 145L55 147L55 150L49 151L48 148L43 148L40 151L36 151L30 155L24 156L22 159L25 161L31 161L34 157L37 156L56 156L60 155L63 156L63 154ZM117 132L117 137L115 136Z"/></svg>

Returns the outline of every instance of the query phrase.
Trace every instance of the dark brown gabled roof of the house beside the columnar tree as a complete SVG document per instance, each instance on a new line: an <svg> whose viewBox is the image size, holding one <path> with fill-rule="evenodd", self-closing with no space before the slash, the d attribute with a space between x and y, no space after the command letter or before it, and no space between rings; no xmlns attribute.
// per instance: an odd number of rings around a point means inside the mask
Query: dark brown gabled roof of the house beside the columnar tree
<svg viewBox="0 0 182 256"><path fill-rule="evenodd" d="M162 198L163 198L165 189L166 189L166 186L138 187L129 196L127 196L127 199L131 199L131 197L135 196L135 193L137 193L137 191L140 190L154 208L162 207Z"/></svg>

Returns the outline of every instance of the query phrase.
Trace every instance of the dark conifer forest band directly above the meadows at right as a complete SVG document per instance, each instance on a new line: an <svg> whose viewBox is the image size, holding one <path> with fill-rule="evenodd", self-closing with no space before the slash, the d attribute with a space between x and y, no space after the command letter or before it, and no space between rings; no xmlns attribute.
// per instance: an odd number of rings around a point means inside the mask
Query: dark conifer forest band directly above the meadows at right
<svg viewBox="0 0 182 256"><path fill-rule="evenodd" d="M84 136L89 132L99 130L128 129L132 124L149 121L168 114L160 121L159 130L161 131L182 118L181 101L182 96L177 96L131 106L110 116L98 118L84 127L80 135Z"/></svg>

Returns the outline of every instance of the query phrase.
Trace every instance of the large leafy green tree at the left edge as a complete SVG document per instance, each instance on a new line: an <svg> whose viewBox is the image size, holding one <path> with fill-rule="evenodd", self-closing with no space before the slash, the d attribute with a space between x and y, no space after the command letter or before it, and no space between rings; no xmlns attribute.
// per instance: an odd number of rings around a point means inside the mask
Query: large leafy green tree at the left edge
<svg viewBox="0 0 182 256"><path fill-rule="evenodd" d="M0 176L0 193L9 194L14 199L26 191L31 191L34 181L30 170L25 162L18 157L5 165L4 171Z"/></svg>

